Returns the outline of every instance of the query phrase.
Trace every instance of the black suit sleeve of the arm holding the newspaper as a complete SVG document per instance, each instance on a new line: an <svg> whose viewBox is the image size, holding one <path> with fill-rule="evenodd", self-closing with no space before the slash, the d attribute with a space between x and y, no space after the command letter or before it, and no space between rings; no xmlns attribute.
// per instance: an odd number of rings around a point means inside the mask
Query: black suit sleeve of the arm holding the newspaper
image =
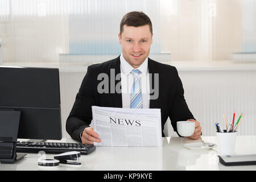
<svg viewBox="0 0 256 182"><path fill-rule="evenodd" d="M89 127L92 121L92 106L96 104L93 82L95 82L95 80L92 68L89 66L66 123L68 134L71 135L73 139L80 142L80 134L86 127Z"/></svg>

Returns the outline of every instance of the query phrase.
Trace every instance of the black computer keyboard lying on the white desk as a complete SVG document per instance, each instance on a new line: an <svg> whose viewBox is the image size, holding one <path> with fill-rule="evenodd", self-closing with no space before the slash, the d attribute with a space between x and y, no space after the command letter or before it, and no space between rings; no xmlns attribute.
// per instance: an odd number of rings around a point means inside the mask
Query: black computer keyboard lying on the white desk
<svg viewBox="0 0 256 182"><path fill-rule="evenodd" d="M77 151L81 155L87 155L96 149L94 144L82 143L57 143L57 142L17 142L16 152L38 153L44 151L49 154L61 154L63 152Z"/></svg>

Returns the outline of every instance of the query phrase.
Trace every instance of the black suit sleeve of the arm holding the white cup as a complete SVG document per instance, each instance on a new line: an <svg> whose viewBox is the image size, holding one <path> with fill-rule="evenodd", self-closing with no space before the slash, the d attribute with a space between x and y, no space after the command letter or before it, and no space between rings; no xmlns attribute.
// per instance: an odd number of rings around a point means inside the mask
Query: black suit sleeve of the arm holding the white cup
<svg viewBox="0 0 256 182"><path fill-rule="evenodd" d="M174 101L171 105L169 117L171 119L172 127L177 132L177 121L186 121L187 119L195 119L188 109L188 105L184 98L184 89L180 77L175 68L176 91ZM196 120L196 119L195 119ZM179 133L177 132L179 135ZM179 135L180 136L180 135Z"/></svg>

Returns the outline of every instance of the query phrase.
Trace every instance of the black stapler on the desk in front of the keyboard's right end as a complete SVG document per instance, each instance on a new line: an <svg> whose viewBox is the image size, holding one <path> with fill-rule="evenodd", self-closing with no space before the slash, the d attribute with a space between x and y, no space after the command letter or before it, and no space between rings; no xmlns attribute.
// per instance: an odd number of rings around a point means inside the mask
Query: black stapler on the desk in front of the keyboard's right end
<svg viewBox="0 0 256 182"><path fill-rule="evenodd" d="M80 152L72 151L55 155L53 158L59 160L60 164L81 165L81 163L78 162L80 156Z"/></svg>

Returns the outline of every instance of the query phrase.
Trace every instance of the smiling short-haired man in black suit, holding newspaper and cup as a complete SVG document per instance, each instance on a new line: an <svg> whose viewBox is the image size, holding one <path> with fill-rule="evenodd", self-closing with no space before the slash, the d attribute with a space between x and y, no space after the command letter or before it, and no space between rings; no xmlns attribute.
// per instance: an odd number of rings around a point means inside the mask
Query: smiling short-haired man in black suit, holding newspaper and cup
<svg viewBox="0 0 256 182"><path fill-rule="evenodd" d="M101 142L100 136L93 131L93 127L89 127L92 121L92 106L159 108L163 137L164 123L168 117L171 119L174 131L177 131L177 121L194 121L195 133L189 138L200 137L200 123L188 109L183 85L176 68L148 57L152 35L152 23L146 14L133 11L123 16L118 34L122 54L102 64L90 65L77 93L66 125L67 132L73 139L82 143ZM102 87L103 90L110 92L99 92L98 85L101 84L101 80L98 76L102 73L114 78L121 73L122 92L117 92L116 89L120 82L118 78L115 79L114 84L109 81L109 85ZM154 76L150 78L148 73ZM153 85L157 90L154 94L148 89Z"/></svg>

